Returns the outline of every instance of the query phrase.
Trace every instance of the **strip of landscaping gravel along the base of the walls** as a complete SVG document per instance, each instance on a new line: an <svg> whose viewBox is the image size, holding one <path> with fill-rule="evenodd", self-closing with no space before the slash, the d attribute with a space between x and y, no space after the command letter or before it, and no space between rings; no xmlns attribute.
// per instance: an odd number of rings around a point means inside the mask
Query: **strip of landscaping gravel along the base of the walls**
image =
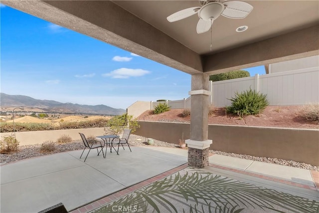
<svg viewBox="0 0 319 213"><path fill-rule="evenodd" d="M139 146L139 147L151 146L147 144L147 138L143 136L134 135L134 134L130 135L129 144L130 146ZM169 148L178 147L178 145L176 144L166 143L166 142L155 140L155 139L154 139L154 145L152 146L169 147ZM73 141L72 143L67 143L67 144L57 144L55 151L46 152L46 153L40 152L40 147L41 147L40 144L20 146L17 153L13 152L10 154L0 154L1 165L5 165L15 161L20 161L27 158L53 154L53 153L80 150L80 149L83 149L83 142ZM288 160L276 159L276 158L255 157L255 156L249 156L249 155L240 155L240 154L226 153L226 152L215 151L215 150L209 150L209 152L213 154L218 154L218 155L225 155L225 156L242 158L247 160L260 161L265 163L296 167L300 169L319 171L319 167L317 166L313 166L313 165L305 164L305 163L299 163L295 161L288 161Z"/></svg>

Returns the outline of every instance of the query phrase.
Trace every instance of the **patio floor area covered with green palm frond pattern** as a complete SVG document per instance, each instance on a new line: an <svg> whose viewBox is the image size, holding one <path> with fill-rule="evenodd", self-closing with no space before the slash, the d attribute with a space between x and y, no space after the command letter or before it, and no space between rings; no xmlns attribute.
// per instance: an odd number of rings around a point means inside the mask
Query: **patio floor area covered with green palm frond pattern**
<svg viewBox="0 0 319 213"><path fill-rule="evenodd" d="M318 213L319 202L211 173L187 172L155 182L95 210L94 213L251 211Z"/></svg>

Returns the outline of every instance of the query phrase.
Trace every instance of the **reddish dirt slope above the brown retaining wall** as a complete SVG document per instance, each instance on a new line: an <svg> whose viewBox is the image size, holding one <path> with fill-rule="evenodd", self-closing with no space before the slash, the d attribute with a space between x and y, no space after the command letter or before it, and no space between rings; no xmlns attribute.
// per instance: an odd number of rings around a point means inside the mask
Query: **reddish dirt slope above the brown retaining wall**
<svg viewBox="0 0 319 213"><path fill-rule="evenodd" d="M285 127L319 129L319 125L307 121L302 115L303 106L268 106L260 115L250 115L243 119L225 112L225 108L215 107L208 118L209 124L226 124L261 127ZM148 110L138 117L140 121L189 122L190 116L182 117L183 109L171 109L155 115Z"/></svg>

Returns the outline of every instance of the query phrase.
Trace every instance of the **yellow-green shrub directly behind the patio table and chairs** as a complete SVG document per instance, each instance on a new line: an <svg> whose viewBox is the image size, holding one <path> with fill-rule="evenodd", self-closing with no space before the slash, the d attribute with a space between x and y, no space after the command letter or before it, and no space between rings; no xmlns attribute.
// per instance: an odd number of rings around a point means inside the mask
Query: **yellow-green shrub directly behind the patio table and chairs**
<svg viewBox="0 0 319 213"><path fill-rule="evenodd" d="M107 122L106 127L109 127L114 135L119 135L125 128L132 129L131 133L133 133L140 125L136 119L133 119L133 115L125 113L111 118Z"/></svg>

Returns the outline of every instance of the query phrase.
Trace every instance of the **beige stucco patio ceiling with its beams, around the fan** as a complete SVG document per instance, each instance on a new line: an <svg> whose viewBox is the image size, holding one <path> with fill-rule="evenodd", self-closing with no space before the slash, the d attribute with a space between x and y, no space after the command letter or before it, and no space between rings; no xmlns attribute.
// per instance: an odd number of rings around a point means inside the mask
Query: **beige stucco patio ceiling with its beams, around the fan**
<svg viewBox="0 0 319 213"><path fill-rule="evenodd" d="M221 1L222 2L222 1ZM2 0L1 3L189 74L220 73L319 54L319 1L249 0L244 19L219 16L197 34L198 0ZM236 32L247 25L248 30ZM79 44L80 45L80 44Z"/></svg>

